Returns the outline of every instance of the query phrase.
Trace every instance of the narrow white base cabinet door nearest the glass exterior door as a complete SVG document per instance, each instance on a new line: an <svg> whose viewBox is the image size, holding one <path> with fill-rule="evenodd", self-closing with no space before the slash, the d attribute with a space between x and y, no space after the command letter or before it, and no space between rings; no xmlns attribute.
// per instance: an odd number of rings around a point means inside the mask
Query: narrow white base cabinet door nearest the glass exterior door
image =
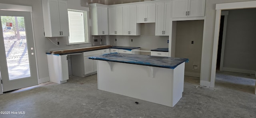
<svg viewBox="0 0 256 118"><path fill-rule="evenodd" d="M60 81L68 80L68 55L60 56L62 78Z"/></svg>

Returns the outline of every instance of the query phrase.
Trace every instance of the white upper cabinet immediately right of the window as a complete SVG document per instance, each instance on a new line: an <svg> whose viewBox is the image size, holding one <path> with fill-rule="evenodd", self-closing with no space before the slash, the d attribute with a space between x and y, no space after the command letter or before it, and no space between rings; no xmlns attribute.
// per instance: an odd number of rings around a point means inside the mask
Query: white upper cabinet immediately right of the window
<svg viewBox="0 0 256 118"><path fill-rule="evenodd" d="M103 4L90 4L92 35L108 35L108 8Z"/></svg>

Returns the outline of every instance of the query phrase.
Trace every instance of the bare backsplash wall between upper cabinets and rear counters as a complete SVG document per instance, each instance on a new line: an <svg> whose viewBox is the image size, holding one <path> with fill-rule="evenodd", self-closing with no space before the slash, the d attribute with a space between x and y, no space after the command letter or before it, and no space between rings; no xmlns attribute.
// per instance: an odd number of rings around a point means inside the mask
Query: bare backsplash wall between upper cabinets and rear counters
<svg viewBox="0 0 256 118"><path fill-rule="evenodd" d="M156 48L168 48L168 39L169 36L155 35L155 23L140 24L140 35L138 36L109 36L110 45L141 47L140 50L146 51ZM144 52L141 52L141 54L150 55L150 53Z"/></svg>

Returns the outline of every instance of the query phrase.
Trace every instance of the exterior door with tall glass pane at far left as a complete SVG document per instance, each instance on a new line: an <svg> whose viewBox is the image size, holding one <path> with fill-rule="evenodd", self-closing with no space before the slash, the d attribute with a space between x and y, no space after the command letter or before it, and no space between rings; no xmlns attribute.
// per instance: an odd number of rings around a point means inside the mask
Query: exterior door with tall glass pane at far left
<svg viewBox="0 0 256 118"><path fill-rule="evenodd" d="M0 10L0 26L3 92L38 85L31 12Z"/></svg>

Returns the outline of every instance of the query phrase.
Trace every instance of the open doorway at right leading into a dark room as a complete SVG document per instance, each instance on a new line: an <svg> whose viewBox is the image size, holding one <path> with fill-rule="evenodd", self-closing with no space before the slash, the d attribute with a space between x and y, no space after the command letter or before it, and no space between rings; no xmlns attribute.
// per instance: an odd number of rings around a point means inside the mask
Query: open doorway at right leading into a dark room
<svg viewBox="0 0 256 118"><path fill-rule="evenodd" d="M251 24L251 22L254 21L256 17L253 18L250 16L246 16L246 15L241 16L241 15L248 12L255 12L255 11L256 9L246 9L246 10L238 9L238 10L222 11L227 13L230 12L230 17L229 17L230 23L228 23L229 26L227 28L228 14L220 16L220 27L219 27L220 29L219 29L219 37L218 37L218 52L217 52L216 76L215 76L216 86L227 87L233 90L240 90L240 91L248 92L252 94L255 93L255 90L256 90L255 75L253 72L243 69L243 67L250 68L250 66L244 66L249 64L240 62L244 65L237 66L240 64L238 63L239 61L245 61L245 60L243 59L237 59L237 61L235 61L236 59L231 60L232 58L235 58L235 57L253 58L252 56L243 55L243 53L248 53L250 55L254 54L250 51L250 50L255 50L255 49L251 49L253 45L250 43L253 43L253 42L250 40L250 38L253 38L255 35L253 33L250 33L251 31L254 31L253 28L250 28L250 26L252 27L254 26L253 24ZM243 17L243 18L239 18L239 17ZM237 25L237 24L240 24L240 25ZM243 38L243 37L246 37L246 38ZM225 50L225 53L224 53L224 50Z"/></svg>

